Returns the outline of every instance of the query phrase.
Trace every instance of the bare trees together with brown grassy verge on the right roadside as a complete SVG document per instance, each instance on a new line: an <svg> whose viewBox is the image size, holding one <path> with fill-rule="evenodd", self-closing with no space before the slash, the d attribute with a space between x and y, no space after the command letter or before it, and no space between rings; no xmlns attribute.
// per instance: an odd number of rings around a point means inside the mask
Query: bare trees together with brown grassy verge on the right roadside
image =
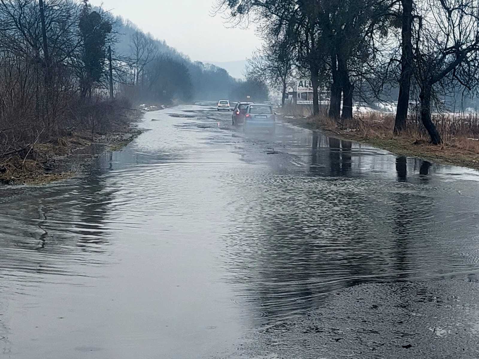
<svg viewBox="0 0 479 359"><path fill-rule="evenodd" d="M262 35L264 45L249 61L251 73L261 74L282 93L294 86L295 79L311 79L309 123L331 131L348 130L383 147L391 146L382 145L379 138L396 141L411 154L422 153L417 148L421 143L437 153L435 157L442 151L468 158L479 153L478 8L479 0L216 4L216 11L232 23L255 23ZM319 101L325 97L326 109ZM354 104L360 101L394 101L397 111L354 113ZM471 115L464 114L466 108Z"/></svg>

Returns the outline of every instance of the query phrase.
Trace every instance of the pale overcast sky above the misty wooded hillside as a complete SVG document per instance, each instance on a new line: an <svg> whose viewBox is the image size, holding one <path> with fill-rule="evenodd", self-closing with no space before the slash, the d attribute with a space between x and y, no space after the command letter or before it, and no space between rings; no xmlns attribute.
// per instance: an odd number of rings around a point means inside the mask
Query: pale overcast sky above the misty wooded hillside
<svg viewBox="0 0 479 359"><path fill-rule="evenodd" d="M90 0L104 10L136 23L143 31L166 40L193 60L244 60L259 47L253 29L230 29L221 14L212 17L215 0Z"/></svg>

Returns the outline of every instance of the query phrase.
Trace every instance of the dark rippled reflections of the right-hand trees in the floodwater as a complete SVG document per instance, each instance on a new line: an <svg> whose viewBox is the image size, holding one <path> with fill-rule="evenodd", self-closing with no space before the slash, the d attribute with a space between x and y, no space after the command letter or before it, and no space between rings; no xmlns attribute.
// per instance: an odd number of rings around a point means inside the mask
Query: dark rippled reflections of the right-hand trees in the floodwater
<svg viewBox="0 0 479 359"><path fill-rule="evenodd" d="M353 160L375 156L365 152L353 157L352 147L349 141L313 134L310 172L351 177ZM385 173L391 169L390 161L378 164L383 167L376 164L375 169ZM398 179L408 180L413 165L399 157ZM431 167L421 163L417 171L427 175ZM235 228L241 236L231 254L234 278L267 317L307 310L332 291L376 281L385 273L405 278L409 269L424 267L411 258L417 255L411 253L411 241L421 233L414 232L421 221L414 213L427 216L431 198L417 201L418 193L403 193L394 182L391 188L387 182L372 185L362 179L291 181L255 193L249 200L254 221L247 230L241 230L245 224Z"/></svg>

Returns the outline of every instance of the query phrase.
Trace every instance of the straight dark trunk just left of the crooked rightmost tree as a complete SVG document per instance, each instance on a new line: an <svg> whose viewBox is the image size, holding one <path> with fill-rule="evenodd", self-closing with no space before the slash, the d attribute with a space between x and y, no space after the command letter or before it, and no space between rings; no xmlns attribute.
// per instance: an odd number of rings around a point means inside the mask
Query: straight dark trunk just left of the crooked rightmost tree
<svg viewBox="0 0 479 359"><path fill-rule="evenodd" d="M412 76L412 1L401 0L402 3L402 30L401 30L401 76L399 78L399 98L394 133L398 134L407 127L409 92Z"/></svg>

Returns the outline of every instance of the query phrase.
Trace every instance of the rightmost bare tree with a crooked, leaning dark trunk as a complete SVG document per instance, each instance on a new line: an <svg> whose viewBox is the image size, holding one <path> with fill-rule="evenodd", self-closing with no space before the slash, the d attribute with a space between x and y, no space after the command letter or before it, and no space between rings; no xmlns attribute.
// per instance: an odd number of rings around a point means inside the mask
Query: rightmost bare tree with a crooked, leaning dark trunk
<svg viewBox="0 0 479 359"><path fill-rule="evenodd" d="M427 0L415 26L414 77L420 93L421 122L433 144L442 142L432 119L435 90L453 81L478 86L479 2Z"/></svg>

